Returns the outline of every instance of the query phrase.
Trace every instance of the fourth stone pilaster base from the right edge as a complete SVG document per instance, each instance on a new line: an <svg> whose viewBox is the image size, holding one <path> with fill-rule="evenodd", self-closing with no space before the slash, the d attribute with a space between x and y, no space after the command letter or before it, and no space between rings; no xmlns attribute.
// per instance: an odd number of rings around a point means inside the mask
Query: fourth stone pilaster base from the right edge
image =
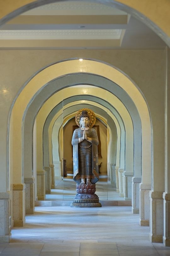
<svg viewBox="0 0 170 256"><path fill-rule="evenodd" d="M141 178L132 178L132 213L139 213L139 184Z"/></svg>

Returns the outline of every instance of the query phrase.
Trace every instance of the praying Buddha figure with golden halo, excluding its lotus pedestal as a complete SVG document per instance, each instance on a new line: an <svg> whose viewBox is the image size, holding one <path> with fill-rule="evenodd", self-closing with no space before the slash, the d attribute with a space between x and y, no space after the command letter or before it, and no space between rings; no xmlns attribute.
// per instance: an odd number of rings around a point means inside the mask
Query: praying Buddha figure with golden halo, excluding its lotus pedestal
<svg viewBox="0 0 170 256"><path fill-rule="evenodd" d="M95 184L99 180L98 136L92 128L96 118L90 109L82 109L76 115L79 126L73 133L73 180L77 184Z"/></svg>

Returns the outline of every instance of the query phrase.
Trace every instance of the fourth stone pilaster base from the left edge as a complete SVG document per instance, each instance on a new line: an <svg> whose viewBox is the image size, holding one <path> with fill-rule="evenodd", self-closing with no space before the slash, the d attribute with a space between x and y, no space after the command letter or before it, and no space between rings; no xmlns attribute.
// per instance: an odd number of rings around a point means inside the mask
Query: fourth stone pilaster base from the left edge
<svg viewBox="0 0 170 256"><path fill-rule="evenodd" d="M45 200L45 171L37 172L37 198Z"/></svg>

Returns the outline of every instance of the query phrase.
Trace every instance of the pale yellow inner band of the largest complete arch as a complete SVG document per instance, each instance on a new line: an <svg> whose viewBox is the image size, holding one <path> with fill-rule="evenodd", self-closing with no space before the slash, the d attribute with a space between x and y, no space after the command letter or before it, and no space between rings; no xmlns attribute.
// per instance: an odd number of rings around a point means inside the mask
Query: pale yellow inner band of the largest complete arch
<svg viewBox="0 0 170 256"><path fill-rule="evenodd" d="M20 92L17 100L12 108L10 118L10 132L17 131L15 136L13 135L13 144L17 147L20 154L14 156L13 168L18 170L18 173L14 177L14 183L23 183L22 173L22 121L25 113L31 105L36 95L38 95L42 89L50 81L56 79L56 77L62 77L68 74L88 73L95 76L105 77L109 81L115 82L118 87L122 88L122 91L126 91L126 94L132 100L134 106L139 113L142 127L142 167L143 167L143 180L150 180L151 176L151 159L152 159L152 129L151 120L148 106L145 102L143 95L140 93L137 86L121 71L108 64L101 63L94 60L83 60L80 62L78 59L67 60L57 64L53 64L44 70L40 71L34 76ZM15 120L13 123L12 120ZM150 171L148 171L150 170Z"/></svg>

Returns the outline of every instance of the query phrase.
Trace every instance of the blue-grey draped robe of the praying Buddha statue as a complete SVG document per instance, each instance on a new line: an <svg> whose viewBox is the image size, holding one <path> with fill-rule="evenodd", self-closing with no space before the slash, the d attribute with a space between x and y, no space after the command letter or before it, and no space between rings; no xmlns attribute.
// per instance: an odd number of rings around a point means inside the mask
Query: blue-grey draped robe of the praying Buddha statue
<svg viewBox="0 0 170 256"><path fill-rule="evenodd" d="M91 179L94 184L99 180L98 167L98 144L96 130L89 128L86 130L87 137L92 138L92 143L86 139L78 143L78 138L83 137L83 132L80 128L73 133L71 144L73 145L73 180L80 184L81 179Z"/></svg>

